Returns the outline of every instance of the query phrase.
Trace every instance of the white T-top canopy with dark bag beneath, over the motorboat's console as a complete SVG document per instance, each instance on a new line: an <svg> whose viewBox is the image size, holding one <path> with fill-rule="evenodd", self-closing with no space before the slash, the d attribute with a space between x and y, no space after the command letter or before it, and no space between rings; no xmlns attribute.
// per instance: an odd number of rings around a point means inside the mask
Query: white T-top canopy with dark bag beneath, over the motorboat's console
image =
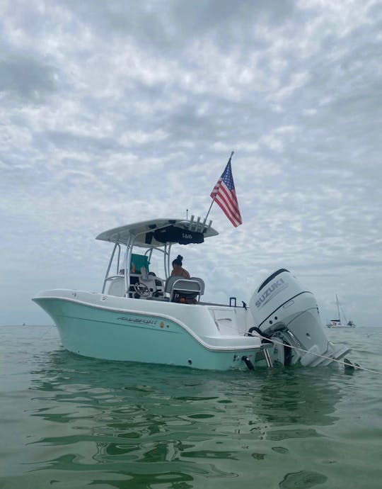
<svg viewBox="0 0 382 489"><path fill-rule="evenodd" d="M200 220L188 219L154 219L140 223L127 224L101 232L96 240L129 244L134 236L134 246L164 247L166 242L189 245L202 243L206 237L219 235L211 225L203 225Z"/></svg>

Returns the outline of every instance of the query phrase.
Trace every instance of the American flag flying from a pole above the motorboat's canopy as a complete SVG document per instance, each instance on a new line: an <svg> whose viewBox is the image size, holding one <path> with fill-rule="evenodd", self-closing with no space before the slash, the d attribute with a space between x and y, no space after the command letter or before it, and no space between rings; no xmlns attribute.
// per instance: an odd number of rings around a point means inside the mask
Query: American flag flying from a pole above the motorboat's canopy
<svg viewBox="0 0 382 489"><path fill-rule="evenodd" d="M211 197L221 208L221 210L223 210L224 214L235 227L238 227L241 225L241 223L243 223L241 220L240 210L238 208L235 184L233 183L231 158L228 159L226 169L221 174L221 177L214 186L214 189L211 192Z"/></svg>

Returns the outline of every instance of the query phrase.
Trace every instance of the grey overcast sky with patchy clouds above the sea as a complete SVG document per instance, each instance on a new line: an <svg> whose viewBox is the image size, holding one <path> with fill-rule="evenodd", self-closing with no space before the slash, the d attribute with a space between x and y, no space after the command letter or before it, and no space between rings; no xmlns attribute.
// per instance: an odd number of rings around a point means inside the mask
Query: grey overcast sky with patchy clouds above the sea
<svg viewBox="0 0 382 489"><path fill-rule="evenodd" d="M204 217L231 150L243 225L174 247L205 298L285 267L381 325L381 1L0 0L0 114L0 325L100 291L99 232Z"/></svg>

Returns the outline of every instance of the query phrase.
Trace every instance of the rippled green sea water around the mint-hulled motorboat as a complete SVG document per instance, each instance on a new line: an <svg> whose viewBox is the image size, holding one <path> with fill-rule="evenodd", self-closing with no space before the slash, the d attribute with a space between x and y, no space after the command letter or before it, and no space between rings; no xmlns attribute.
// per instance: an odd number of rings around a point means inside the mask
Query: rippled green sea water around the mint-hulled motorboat
<svg viewBox="0 0 382 489"><path fill-rule="evenodd" d="M382 372L382 329L328 330ZM382 375L99 361L0 327L0 488L381 488Z"/></svg>

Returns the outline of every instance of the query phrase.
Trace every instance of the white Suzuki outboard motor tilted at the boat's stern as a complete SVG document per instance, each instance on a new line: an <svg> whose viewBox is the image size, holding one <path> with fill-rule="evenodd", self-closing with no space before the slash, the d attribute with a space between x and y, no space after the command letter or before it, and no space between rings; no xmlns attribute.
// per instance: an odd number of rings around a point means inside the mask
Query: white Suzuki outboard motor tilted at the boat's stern
<svg viewBox="0 0 382 489"><path fill-rule="evenodd" d="M253 329L274 339L274 360L283 365L327 365L349 352L328 341L316 298L287 269L262 282L250 298L250 311L257 325Z"/></svg>

